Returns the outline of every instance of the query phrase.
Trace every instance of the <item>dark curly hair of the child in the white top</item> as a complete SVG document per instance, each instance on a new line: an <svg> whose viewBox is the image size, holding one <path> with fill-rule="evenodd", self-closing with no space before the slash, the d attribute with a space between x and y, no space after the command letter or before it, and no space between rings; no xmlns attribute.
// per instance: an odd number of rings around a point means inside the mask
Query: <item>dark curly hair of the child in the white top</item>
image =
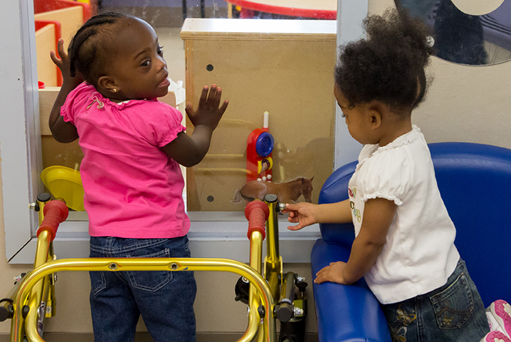
<svg viewBox="0 0 511 342"><path fill-rule="evenodd" d="M434 53L426 25L387 10L368 16L363 27L366 38L340 47L336 86L351 107L378 100L397 112L413 109L424 98L424 68Z"/></svg>

